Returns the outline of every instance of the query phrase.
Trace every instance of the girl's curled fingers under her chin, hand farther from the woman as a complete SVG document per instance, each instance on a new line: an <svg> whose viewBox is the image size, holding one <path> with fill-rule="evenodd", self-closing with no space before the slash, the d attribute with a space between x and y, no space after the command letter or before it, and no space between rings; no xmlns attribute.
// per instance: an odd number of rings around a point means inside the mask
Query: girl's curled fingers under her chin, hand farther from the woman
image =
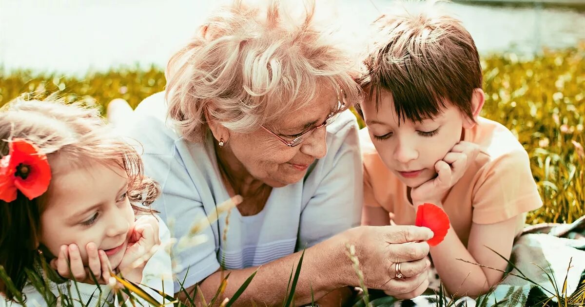
<svg viewBox="0 0 585 307"><path fill-rule="evenodd" d="M63 278L82 282L84 284L107 284L112 271L108 256L103 250L98 250L95 243L87 243L88 266L81 260L81 253L77 244L62 245L59 256L50 261L50 266ZM71 268L71 270L70 270ZM94 274L94 278L91 274Z"/></svg>

